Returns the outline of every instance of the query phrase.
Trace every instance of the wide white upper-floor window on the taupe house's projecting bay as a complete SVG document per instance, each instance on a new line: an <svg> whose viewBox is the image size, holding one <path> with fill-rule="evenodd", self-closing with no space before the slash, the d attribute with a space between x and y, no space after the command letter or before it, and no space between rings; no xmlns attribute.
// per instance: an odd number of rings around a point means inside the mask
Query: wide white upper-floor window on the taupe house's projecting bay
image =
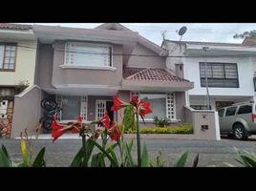
<svg viewBox="0 0 256 191"><path fill-rule="evenodd" d="M65 65L112 67L112 46L68 42L65 47Z"/></svg>

